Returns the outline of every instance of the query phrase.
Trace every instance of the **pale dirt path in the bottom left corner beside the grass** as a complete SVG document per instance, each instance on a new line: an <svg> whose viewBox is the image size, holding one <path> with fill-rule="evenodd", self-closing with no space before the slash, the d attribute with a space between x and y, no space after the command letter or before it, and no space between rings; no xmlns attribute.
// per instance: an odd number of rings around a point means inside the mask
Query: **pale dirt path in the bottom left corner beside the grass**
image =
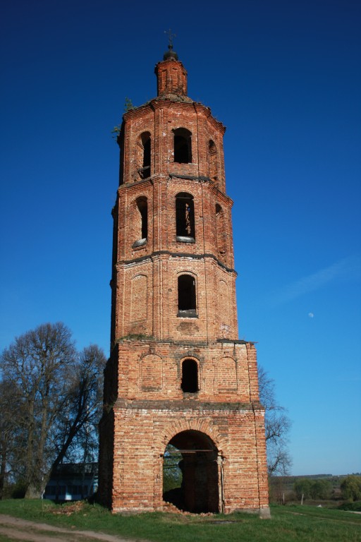
<svg viewBox="0 0 361 542"><path fill-rule="evenodd" d="M111 534L95 533L94 531L75 531L63 529L44 523L29 522L27 519L0 514L0 541L23 542L135 542L130 538L113 536Z"/></svg>

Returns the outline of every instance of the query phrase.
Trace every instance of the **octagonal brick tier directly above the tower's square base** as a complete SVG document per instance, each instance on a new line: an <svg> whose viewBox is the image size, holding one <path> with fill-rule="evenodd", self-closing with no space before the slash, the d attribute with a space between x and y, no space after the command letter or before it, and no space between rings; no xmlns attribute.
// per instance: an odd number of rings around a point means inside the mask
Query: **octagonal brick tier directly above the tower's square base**
<svg viewBox="0 0 361 542"><path fill-rule="evenodd" d="M194 277L195 318L178 315L179 275ZM189 255L158 254L119 265L115 339L138 334L179 340L235 337L234 278L210 256L191 260Z"/></svg>

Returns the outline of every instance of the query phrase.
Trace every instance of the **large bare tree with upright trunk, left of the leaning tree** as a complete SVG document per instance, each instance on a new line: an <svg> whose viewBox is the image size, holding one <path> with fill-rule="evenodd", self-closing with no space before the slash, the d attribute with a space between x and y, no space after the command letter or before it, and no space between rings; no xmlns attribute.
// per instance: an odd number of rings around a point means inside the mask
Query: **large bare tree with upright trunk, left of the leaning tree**
<svg viewBox="0 0 361 542"><path fill-rule="evenodd" d="M2 378L13 389L18 469L28 498L42 495L47 482L53 428L66 399L66 373L76 359L71 331L63 323L39 325L16 337L1 354Z"/></svg>

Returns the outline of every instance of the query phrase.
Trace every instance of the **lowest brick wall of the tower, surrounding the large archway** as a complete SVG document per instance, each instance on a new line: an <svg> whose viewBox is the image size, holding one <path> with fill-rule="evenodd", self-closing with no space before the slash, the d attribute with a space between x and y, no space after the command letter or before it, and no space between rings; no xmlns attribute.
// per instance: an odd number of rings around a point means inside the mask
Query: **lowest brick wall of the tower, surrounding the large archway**
<svg viewBox="0 0 361 542"><path fill-rule="evenodd" d="M250 409L176 411L172 405L121 404L116 409L114 450L114 512L162 510L162 466L169 440L183 430L209 435L220 452L224 469L224 512L266 507L267 476L258 478L262 446L255 445L259 413ZM126 423L124 423L126 421ZM164 435L161 439L159 435ZM240 452L238 452L240 450Z"/></svg>

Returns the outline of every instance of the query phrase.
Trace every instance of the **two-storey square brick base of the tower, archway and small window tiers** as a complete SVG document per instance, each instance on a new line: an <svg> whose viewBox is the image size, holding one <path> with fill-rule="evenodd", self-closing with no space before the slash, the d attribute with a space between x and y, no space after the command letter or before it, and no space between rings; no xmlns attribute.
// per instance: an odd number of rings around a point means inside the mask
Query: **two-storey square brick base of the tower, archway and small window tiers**
<svg viewBox="0 0 361 542"><path fill-rule="evenodd" d="M106 408L114 412L115 512L164 507L162 456L181 430L202 431L214 442L223 469L224 512L267 507L264 410L253 344L128 339L118 345L116 359L116 402L111 386L105 392ZM197 361L198 392L181 389L183 359Z"/></svg>

